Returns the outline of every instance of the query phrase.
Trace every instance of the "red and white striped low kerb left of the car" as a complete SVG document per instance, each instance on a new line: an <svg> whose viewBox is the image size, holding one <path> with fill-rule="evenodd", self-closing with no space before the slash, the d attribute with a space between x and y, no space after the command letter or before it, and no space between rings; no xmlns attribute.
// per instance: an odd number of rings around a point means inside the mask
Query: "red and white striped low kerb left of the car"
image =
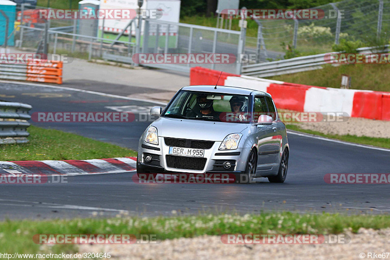
<svg viewBox="0 0 390 260"><path fill-rule="evenodd" d="M83 175L135 171L137 158L0 161L1 175Z"/></svg>

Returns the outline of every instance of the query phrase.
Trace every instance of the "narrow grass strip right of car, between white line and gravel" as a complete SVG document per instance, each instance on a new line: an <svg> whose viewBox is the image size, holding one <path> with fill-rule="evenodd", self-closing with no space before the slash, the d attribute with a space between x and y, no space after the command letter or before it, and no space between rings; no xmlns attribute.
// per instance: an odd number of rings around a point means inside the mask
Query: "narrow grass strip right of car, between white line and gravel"
<svg viewBox="0 0 390 260"><path fill-rule="evenodd" d="M317 132L317 131L302 129L297 124L286 124L286 127L287 127L287 129L290 129L293 131L304 132L304 133L327 137L327 138L331 138L331 139L337 139L337 140L343 140L343 141L348 141L348 142L355 142L355 143L368 144L368 145L373 145L373 146L378 146L378 147L390 148L390 139L389 138L375 138L375 137L366 137L366 136L358 137L358 136L352 136L352 135L344 135L344 136L330 135L330 134L324 134L324 133Z"/></svg>

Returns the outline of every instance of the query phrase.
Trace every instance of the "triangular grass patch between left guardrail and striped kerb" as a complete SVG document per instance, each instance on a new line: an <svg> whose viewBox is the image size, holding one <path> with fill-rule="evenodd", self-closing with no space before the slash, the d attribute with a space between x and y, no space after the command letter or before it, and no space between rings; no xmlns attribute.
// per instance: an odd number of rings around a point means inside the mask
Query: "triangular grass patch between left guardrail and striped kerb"
<svg viewBox="0 0 390 260"><path fill-rule="evenodd" d="M27 130L30 142L2 144L0 160L87 160L137 155L127 148L59 130L33 125Z"/></svg>

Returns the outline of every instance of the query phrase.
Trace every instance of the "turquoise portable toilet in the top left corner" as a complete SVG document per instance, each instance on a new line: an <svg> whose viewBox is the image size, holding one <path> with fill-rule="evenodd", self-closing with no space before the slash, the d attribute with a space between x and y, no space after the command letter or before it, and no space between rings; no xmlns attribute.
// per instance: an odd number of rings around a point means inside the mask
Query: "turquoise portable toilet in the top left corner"
<svg viewBox="0 0 390 260"><path fill-rule="evenodd" d="M5 36L9 36L14 30L16 17L16 3L9 0L0 0L0 45L5 42ZM4 14L8 17L8 33L5 32L6 19ZM7 41L8 46L14 46L14 35Z"/></svg>

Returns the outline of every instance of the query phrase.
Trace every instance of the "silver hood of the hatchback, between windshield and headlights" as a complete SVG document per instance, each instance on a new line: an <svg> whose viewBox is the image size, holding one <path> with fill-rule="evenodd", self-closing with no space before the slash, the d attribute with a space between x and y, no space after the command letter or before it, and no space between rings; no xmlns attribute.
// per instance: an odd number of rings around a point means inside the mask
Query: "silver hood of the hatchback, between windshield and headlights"
<svg viewBox="0 0 390 260"><path fill-rule="evenodd" d="M244 123L159 118L152 123L158 136L180 139L222 141L227 135L248 128Z"/></svg>

